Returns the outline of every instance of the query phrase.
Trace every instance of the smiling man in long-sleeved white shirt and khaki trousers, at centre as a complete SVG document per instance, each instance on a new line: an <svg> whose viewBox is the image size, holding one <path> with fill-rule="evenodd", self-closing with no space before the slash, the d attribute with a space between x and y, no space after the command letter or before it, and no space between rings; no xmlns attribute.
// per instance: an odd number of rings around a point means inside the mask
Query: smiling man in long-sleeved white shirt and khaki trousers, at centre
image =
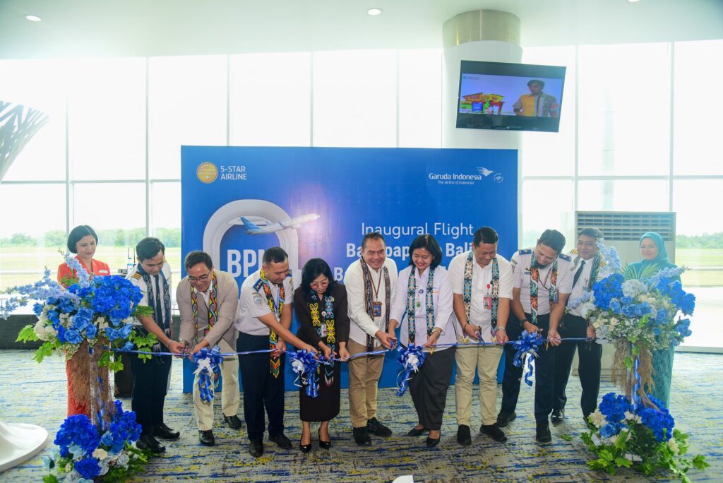
<svg viewBox="0 0 723 483"><path fill-rule="evenodd" d="M391 349L395 340L387 333L397 266L387 259L387 245L378 233L364 235L361 258L344 274L351 320L349 354ZM349 413L357 445L372 444L369 432L381 437L391 429L377 419L377 385L384 367L384 355L351 359L349 367Z"/></svg>

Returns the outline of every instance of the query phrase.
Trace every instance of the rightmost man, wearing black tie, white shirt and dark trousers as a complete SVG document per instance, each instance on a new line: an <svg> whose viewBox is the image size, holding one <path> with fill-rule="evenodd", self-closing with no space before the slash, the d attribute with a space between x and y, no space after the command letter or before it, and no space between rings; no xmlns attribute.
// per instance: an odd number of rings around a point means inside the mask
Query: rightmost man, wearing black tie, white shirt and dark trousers
<svg viewBox="0 0 723 483"><path fill-rule="evenodd" d="M574 257L570 270L573 275L573 291L569 300L579 299L583 294L592 290L596 281L602 280L601 269L605 260L600 255L597 242L602 241L602 231L598 228L583 228L578 234L577 248L570 252ZM568 307L568 313L560 326L562 338L595 338L593 328L588 327L587 320L581 317L580 307ZM565 419L565 388L570 377L570 368L573 365L575 349L578 349L578 375L582 386L580 408L583 418L597 408L597 396L600 392L600 366L602 359L602 346L591 341L565 342L557 348L555 355L555 396L552 401L553 423Z"/></svg>

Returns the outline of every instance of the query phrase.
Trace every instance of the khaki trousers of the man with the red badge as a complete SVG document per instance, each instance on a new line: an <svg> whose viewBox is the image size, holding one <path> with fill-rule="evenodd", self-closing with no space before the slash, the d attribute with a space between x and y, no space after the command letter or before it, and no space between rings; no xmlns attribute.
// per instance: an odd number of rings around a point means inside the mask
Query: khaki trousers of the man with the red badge
<svg viewBox="0 0 723 483"><path fill-rule="evenodd" d="M463 338L459 338L462 343ZM472 381L474 372L479 375L479 405L482 407L482 424L497 422L497 367L500 365L502 346L458 347L457 380L454 387L457 405L457 424L471 426Z"/></svg>

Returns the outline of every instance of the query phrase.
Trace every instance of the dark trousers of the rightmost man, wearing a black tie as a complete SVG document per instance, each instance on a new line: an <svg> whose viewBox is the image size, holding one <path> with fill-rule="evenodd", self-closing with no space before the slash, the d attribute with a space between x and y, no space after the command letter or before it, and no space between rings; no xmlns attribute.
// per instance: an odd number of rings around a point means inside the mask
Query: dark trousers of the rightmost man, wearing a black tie
<svg viewBox="0 0 723 483"><path fill-rule="evenodd" d="M576 315L565 315L565 320L558 330L562 338L587 337L587 321ZM602 359L602 346L590 341L563 342L557 346L555 356L555 396L552 399L552 409L565 409L568 397L565 388L570 378L570 368L573 365L575 349L578 349L578 375L583 393L580 398L580 409L583 416L589 416L597 408L597 396L600 392L600 361Z"/></svg>

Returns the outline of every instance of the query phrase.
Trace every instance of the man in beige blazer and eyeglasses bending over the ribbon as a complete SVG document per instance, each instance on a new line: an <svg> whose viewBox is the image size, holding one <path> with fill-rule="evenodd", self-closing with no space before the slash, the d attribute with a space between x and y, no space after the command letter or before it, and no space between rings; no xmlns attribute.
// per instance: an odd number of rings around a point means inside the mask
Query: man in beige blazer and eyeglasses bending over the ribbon
<svg viewBox="0 0 723 483"><path fill-rule="evenodd" d="M215 270L205 252L186 255L187 276L176 288L176 303L181 313L181 343L189 354L218 345L221 354L236 352L236 309L239 307L239 286L230 273ZM221 410L223 420L231 429L241 429L236 416L241 402L239 390L239 358L234 354L223 358ZM193 380L193 404L202 445L213 446L213 401L202 401L197 374Z"/></svg>

